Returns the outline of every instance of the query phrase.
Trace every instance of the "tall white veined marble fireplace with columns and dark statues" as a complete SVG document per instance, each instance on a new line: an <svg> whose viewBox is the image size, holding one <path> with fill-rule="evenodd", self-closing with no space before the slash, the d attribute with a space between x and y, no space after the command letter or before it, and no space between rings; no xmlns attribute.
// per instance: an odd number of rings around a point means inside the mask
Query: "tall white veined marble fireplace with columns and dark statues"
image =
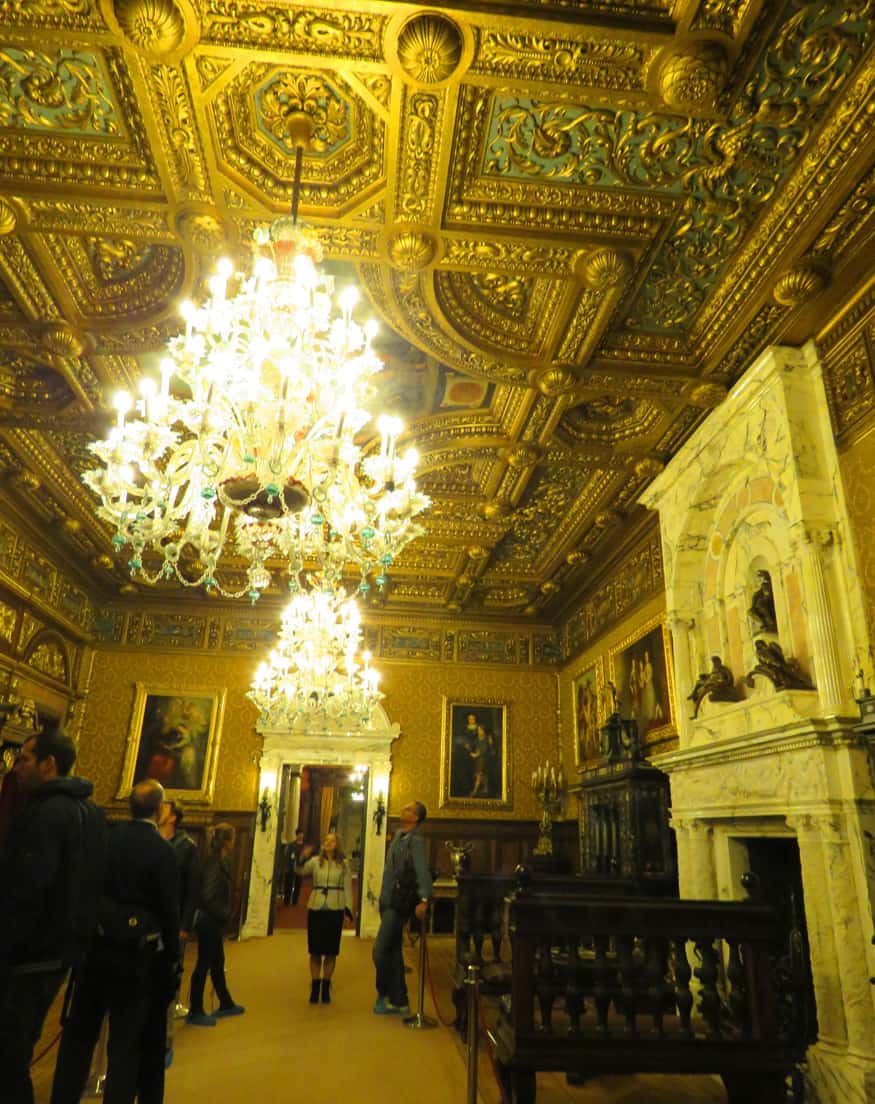
<svg viewBox="0 0 875 1104"><path fill-rule="evenodd" d="M854 700L856 672L873 688L875 672L813 343L766 350L641 501L665 567L679 750L654 765L681 894L744 898L746 841L796 840L818 1029L805 1098L875 1101L875 788ZM694 716L712 657L732 687Z"/></svg>

